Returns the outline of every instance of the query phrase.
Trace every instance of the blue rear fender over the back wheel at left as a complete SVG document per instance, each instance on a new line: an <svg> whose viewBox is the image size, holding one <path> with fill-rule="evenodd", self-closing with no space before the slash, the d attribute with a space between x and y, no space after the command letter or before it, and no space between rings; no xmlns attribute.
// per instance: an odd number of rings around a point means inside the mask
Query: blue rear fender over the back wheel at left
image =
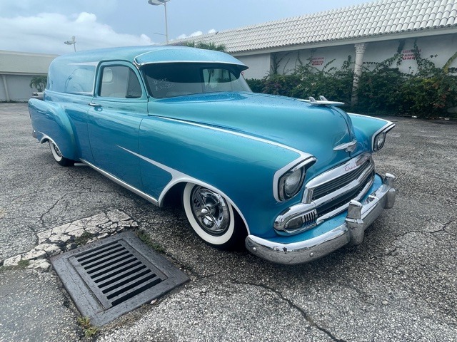
<svg viewBox="0 0 457 342"><path fill-rule="evenodd" d="M52 140L59 146L64 157L79 160L71 121L60 105L31 98L29 113L32 128L39 142Z"/></svg>

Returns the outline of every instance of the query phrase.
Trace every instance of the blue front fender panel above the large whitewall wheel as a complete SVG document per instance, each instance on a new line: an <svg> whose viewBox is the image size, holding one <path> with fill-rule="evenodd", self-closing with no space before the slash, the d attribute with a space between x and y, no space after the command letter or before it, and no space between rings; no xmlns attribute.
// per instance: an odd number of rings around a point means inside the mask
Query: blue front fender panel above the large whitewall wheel
<svg viewBox="0 0 457 342"><path fill-rule="evenodd" d="M271 234L276 215L290 205L274 196L278 170L286 172L288 165L311 158L262 138L154 116L141 122L139 156L144 191L159 198L159 204L178 182L211 185L238 208L248 229L260 235Z"/></svg>

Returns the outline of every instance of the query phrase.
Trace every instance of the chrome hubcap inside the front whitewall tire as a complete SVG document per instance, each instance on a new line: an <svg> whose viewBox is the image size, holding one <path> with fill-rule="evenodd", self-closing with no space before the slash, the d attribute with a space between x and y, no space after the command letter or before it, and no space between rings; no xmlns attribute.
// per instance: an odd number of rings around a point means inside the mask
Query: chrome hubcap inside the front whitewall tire
<svg viewBox="0 0 457 342"><path fill-rule="evenodd" d="M196 221L208 234L219 236L229 229L229 206L217 192L196 186L191 193L191 204Z"/></svg>

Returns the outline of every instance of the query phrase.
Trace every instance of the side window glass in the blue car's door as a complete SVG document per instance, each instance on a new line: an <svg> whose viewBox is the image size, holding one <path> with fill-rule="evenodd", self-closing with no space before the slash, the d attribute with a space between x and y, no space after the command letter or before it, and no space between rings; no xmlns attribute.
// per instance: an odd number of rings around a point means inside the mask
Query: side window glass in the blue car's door
<svg viewBox="0 0 457 342"><path fill-rule="evenodd" d="M141 98L141 86L128 66L105 66L99 95L107 98Z"/></svg>

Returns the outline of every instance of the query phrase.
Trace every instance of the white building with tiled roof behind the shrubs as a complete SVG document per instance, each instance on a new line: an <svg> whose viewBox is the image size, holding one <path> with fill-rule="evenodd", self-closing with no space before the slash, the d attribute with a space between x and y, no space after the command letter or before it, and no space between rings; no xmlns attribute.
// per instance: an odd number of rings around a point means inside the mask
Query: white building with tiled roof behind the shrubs
<svg viewBox="0 0 457 342"><path fill-rule="evenodd" d="M351 56L356 74L363 62L381 62L400 48L400 70L416 71L412 48L442 67L457 52L457 0L379 0L263 24L173 41L224 44L249 67L245 78L290 73L299 61L323 68ZM437 56L436 56L437 55ZM435 57L436 56L436 57ZM457 66L457 58L451 66Z"/></svg>

